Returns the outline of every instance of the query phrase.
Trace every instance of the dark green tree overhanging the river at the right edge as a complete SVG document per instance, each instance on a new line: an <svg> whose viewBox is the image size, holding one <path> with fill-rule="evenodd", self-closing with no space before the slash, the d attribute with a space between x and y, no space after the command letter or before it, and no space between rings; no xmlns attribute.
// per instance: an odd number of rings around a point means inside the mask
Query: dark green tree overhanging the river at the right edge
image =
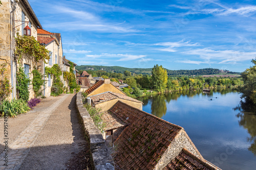
<svg viewBox="0 0 256 170"><path fill-rule="evenodd" d="M240 87L239 91L242 93L241 98L256 104L256 60L252 59L251 62L254 66L247 68L241 74L244 86Z"/></svg>

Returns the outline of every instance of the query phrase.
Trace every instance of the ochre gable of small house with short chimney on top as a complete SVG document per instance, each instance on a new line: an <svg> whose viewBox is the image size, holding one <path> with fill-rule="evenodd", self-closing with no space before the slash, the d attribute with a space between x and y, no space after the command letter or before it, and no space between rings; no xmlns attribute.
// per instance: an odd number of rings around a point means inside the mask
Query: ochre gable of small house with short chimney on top
<svg viewBox="0 0 256 170"><path fill-rule="evenodd" d="M103 92L112 91L118 94L124 94L123 91L118 89L116 86L110 83L110 79L104 79L104 81L100 80L97 83L95 83L93 86L91 86L89 89L86 90L87 96L92 96L96 94L100 94Z"/></svg>

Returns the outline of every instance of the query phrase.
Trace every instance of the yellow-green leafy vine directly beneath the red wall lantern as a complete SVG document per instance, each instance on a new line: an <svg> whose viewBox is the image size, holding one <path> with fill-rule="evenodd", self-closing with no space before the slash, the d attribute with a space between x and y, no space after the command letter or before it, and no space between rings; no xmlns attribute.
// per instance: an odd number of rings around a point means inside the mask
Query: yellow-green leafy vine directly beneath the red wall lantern
<svg viewBox="0 0 256 170"><path fill-rule="evenodd" d="M23 57L28 57L32 60L39 61L50 59L49 51L45 46L40 45L39 42L33 36L20 36L17 33L16 36L16 50L14 52L17 57L16 60L19 62Z"/></svg>

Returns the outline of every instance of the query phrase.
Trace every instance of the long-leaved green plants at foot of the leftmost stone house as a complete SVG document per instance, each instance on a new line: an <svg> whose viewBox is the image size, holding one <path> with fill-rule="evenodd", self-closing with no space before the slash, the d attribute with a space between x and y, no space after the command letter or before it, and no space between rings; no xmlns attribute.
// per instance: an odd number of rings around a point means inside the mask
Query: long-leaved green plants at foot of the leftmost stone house
<svg viewBox="0 0 256 170"><path fill-rule="evenodd" d="M0 105L0 111L2 116L7 115L10 117L16 117L18 114L26 113L30 110L27 102L24 100L12 100L11 102L8 100L3 100Z"/></svg>

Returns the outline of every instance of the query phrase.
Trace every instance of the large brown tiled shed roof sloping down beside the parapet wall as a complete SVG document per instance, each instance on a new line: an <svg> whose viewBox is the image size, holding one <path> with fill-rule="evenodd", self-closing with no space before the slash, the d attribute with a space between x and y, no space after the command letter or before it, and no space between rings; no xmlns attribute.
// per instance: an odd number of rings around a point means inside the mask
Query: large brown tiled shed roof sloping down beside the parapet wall
<svg viewBox="0 0 256 170"><path fill-rule="evenodd" d="M120 101L109 111L128 125L115 141L121 169L153 169L182 129Z"/></svg>

